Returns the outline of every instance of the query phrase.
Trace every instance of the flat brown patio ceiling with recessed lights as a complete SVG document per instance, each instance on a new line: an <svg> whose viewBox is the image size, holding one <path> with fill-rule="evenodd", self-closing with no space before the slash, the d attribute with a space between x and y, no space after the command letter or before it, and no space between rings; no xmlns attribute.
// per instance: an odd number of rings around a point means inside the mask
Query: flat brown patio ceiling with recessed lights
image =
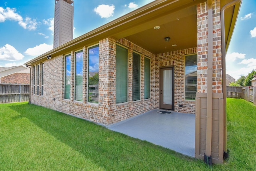
<svg viewBox="0 0 256 171"><path fill-rule="evenodd" d="M154 26L160 26L160 29L155 30ZM153 54L197 47L196 6L166 14L136 27L145 27L145 30L136 31L135 28L134 34L124 38ZM170 37L169 42L164 40L166 37Z"/></svg>

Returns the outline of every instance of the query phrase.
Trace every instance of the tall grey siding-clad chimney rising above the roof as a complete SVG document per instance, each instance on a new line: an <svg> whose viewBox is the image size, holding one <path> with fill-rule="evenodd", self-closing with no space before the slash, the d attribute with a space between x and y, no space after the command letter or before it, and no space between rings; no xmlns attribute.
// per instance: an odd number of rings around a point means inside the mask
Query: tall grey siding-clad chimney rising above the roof
<svg viewBox="0 0 256 171"><path fill-rule="evenodd" d="M55 0L53 48L73 39L74 2Z"/></svg>

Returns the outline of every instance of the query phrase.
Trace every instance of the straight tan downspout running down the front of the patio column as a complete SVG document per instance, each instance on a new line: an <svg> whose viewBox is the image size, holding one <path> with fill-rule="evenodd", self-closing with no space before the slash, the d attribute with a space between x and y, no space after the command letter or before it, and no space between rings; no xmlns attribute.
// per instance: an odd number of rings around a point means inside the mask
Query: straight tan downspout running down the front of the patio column
<svg viewBox="0 0 256 171"><path fill-rule="evenodd" d="M208 80L207 80L207 114L206 114L206 149L204 162L212 165L212 50L213 50L213 24L212 0L207 0L208 7Z"/></svg>

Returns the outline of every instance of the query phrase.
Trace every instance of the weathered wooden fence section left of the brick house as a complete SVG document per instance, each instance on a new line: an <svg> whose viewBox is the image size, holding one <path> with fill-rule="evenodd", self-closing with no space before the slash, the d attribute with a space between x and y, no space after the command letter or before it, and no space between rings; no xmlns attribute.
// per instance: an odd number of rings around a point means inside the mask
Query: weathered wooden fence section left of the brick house
<svg viewBox="0 0 256 171"><path fill-rule="evenodd" d="M0 84L0 103L29 101L29 84Z"/></svg>

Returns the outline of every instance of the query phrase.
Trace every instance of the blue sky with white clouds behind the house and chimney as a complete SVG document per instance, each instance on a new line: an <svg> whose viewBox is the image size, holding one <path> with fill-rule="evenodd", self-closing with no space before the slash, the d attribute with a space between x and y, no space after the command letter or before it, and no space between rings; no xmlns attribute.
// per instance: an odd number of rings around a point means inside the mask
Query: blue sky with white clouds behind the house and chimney
<svg viewBox="0 0 256 171"><path fill-rule="evenodd" d="M74 0L74 38L152 0ZM22 65L52 49L55 0L0 1L0 66ZM236 80L256 69L256 0L243 0L227 53Z"/></svg>

